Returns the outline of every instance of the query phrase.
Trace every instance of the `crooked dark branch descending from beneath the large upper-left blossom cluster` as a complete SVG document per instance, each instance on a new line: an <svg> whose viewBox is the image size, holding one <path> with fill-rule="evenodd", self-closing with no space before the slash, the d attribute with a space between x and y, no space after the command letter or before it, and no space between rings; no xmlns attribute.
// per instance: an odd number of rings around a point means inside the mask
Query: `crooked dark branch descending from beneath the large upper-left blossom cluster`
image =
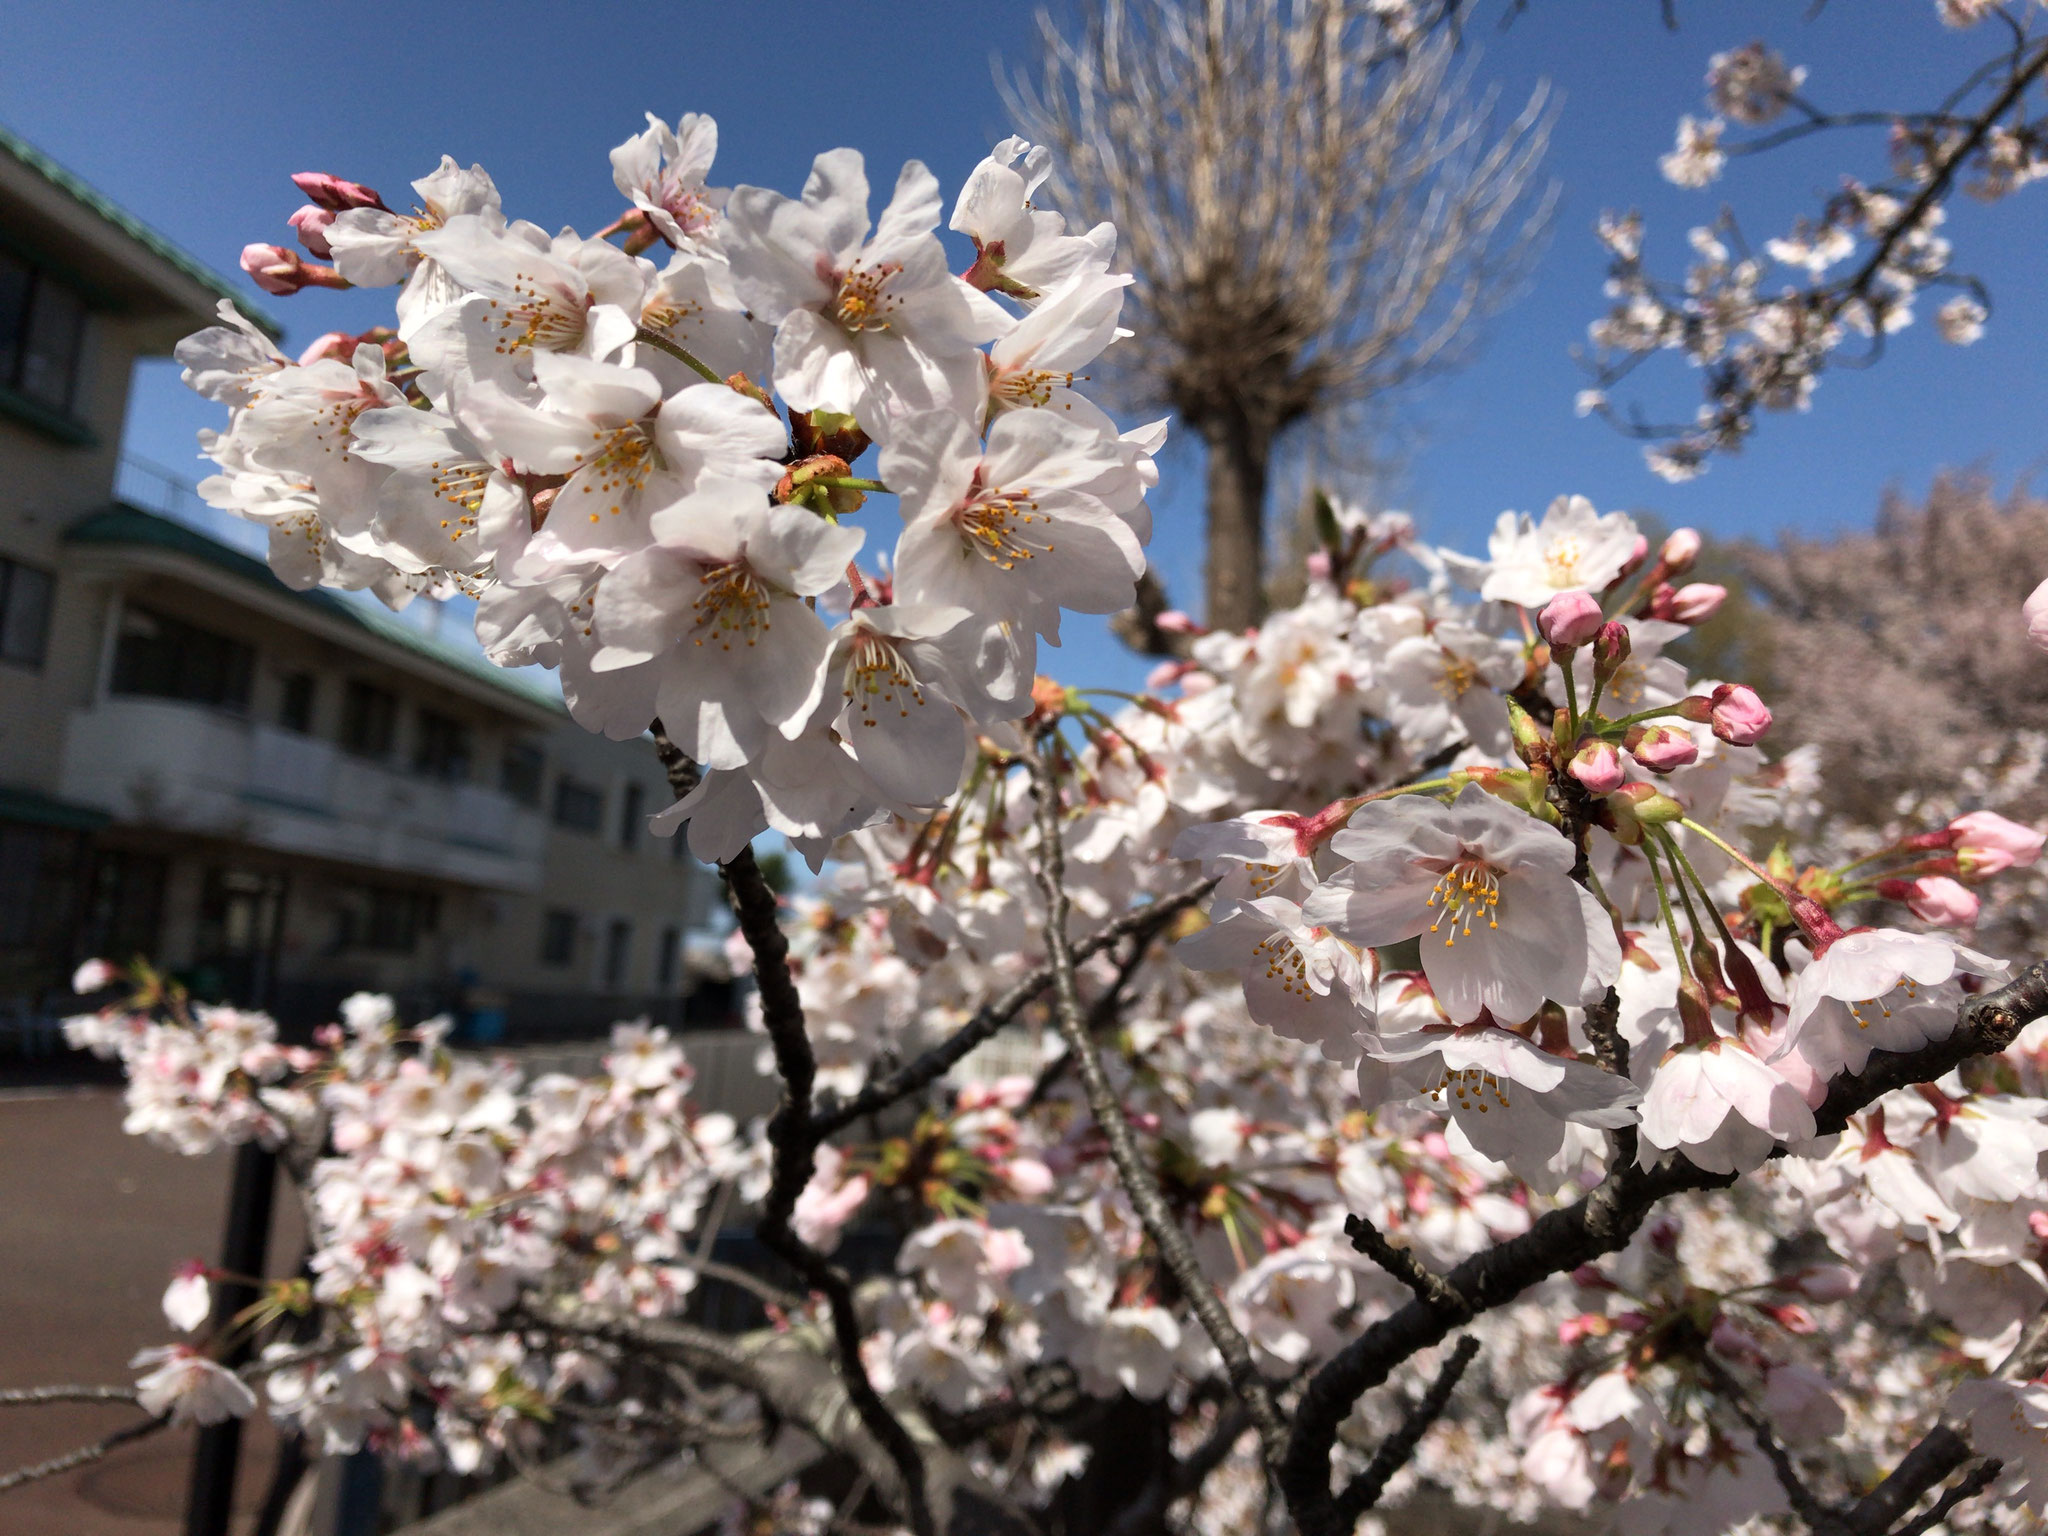
<svg viewBox="0 0 2048 1536"><path fill-rule="evenodd" d="M721 866L725 887L739 918L739 934L754 950L754 985L762 999L762 1022L774 1047L776 1071L782 1077L782 1102L768 1120L768 1145L774 1151L774 1174L768 1186L768 1200L756 1227L768 1251L797 1270L803 1282L825 1298L831 1309L831 1335L840 1352L840 1374L846 1380L846 1395L868 1427L895 1462L903 1483L903 1503L911 1530L918 1536L936 1536L932 1505L926 1497L924 1452L911 1438L903 1421L889 1409L868 1368L860 1360L860 1317L854 1311L854 1286L846 1272L823 1253L805 1243L791 1214L797 1196L811 1182L819 1135L811 1120L811 1087L817 1081L817 1057L811 1053L811 1036L803 1022L803 999L797 995L797 981L788 973L788 940L776 918L776 895L754 850L741 848L737 858Z"/></svg>

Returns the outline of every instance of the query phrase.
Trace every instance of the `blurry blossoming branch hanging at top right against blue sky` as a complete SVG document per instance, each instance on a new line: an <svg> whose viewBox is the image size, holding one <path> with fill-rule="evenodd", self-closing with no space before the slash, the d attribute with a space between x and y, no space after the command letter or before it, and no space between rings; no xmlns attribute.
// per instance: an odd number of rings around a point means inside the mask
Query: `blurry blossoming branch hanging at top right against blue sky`
<svg viewBox="0 0 2048 1536"><path fill-rule="evenodd" d="M1954 29L1993 16L2003 25L1982 27L1995 49L1933 109L1821 109L1802 94L1804 68L1749 43L1712 57L1710 115L1681 117L1677 145L1659 162L1675 186L1704 188L1733 158L1876 127L1886 131L1886 176L1843 176L1819 213L1761 250L1722 211L1690 233L1696 260L1681 281L1647 268L1640 215L1602 217L1614 303L1589 330L1593 377L1579 412L1645 438L1645 457L1665 479L1692 479L1714 453L1741 451L1759 412L1806 410L1829 367L1874 362L1927 293L1952 295L1935 311L1944 340L1966 346L1982 336L1991 295L1956 268L1939 229L1954 193L1995 203L2048 172L2040 117L2048 39L2030 29L2032 6L1937 0L1937 10ZM1737 129L1751 133L1731 137ZM1690 422L1612 401L1614 387L1657 352L1700 369L1704 401Z"/></svg>

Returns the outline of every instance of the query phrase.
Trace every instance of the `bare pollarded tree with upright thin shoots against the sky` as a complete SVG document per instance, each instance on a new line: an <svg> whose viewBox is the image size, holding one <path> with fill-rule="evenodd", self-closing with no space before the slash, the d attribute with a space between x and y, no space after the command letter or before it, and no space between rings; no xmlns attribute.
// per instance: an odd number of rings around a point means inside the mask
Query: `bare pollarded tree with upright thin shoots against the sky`
<svg viewBox="0 0 2048 1536"><path fill-rule="evenodd" d="M1266 610L1266 492L1290 426L1452 362L1550 211L1538 88L1505 127L1448 31L1370 0L1098 0L1040 12L1012 106L1137 274L1133 401L1208 446L1208 623Z"/></svg>

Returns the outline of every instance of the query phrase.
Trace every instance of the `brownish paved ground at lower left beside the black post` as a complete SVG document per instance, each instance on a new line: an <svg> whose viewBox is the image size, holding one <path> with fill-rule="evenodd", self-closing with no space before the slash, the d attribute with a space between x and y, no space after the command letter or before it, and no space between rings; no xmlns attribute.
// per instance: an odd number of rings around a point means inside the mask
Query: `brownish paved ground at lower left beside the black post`
<svg viewBox="0 0 2048 1536"><path fill-rule="evenodd" d="M172 1339L160 1298L186 1257L217 1257L229 1157L178 1157L121 1135L109 1087L0 1087L0 1386L131 1382L135 1350ZM279 1192L272 1274L297 1257ZM133 1409L0 1407L0 1470L129 1423ZM238 1511L254 1509L270 1430L244 1434ZM102 1462L0 1493L6 1536L178 1536L190 1432L158 1434ZM240 1522L238 1522L240 1524Z"/></svg>

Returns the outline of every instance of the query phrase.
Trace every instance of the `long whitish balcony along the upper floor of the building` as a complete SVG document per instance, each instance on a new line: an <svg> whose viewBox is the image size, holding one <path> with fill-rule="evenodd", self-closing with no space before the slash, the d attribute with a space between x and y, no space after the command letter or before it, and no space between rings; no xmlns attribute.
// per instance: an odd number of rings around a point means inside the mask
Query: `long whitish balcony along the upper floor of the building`
<svg viewBox="0 0 2048 1536"><path fill-rule="evenodd" d="M129 825L459 885L532 891L547 827L481 784L442 784L332 741L160 698L74 711L66 799Z"/></svg>

